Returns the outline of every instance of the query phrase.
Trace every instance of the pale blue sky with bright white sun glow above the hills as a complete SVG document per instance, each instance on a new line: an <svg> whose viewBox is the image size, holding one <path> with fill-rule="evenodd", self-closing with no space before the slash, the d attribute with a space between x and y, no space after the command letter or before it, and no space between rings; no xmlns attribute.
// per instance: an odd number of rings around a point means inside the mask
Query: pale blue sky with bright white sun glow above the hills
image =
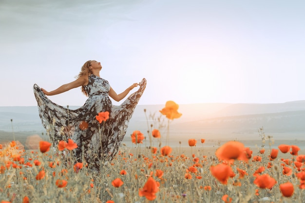
<svg viewBox="0 0 305 203"><path fill-rule="evenodd" d="M54 90L87 60L101 62L117 93L146 78L139 105L305 100L304 9L304 0L1 0L0 106L36 106L35 83ZM87 99L79 88L49 98Z"/></svg>

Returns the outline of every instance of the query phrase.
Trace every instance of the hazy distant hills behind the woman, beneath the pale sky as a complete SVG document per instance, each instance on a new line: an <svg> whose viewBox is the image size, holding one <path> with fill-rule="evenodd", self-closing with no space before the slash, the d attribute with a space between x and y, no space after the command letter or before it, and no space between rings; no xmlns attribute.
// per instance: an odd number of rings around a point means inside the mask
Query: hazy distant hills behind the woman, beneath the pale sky
<svg viewBox="0 0 305 203"><path fill-rule="evenodd" d="M164 107L165 105L138 105L124 140L129 141L134 130L147 133L147 130L166 126L168 120L159 112ZM204 136L207 139L259 139L258 129L264 127L264 131L274 137L305 140L305 101L279 104L182 104L178 111L182 113L181 118L170 122L170 134L175 139L184 140L190 136ZM12 131L21 137L45 133L38 108L0 107L0 141L9 138ZM161 127L160 131L165 134L166 128Z"/></svg>

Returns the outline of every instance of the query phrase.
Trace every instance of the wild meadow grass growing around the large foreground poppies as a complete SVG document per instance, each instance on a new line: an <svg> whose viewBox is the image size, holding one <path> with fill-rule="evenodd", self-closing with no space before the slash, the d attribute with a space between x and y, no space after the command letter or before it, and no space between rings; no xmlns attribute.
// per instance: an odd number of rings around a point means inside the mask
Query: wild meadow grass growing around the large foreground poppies
<svg viewBox="0 0 305 203"><path fill-rule="evenodd" d="M263 129L259 133L262 146L251 149L253 153L248 161L224 162L216 157L215 148L205 148L200 141L196 147L172 148L170 155L165 156L161 153L164 146L150 137L151 146L122 145L114 159L95 172L85 163L76 167L73 158L67 158L67 149L66 156L58 148L42 153L24 150L21 144L12 141L0 146L0 203L304 203L304 184L297 175L305 170L305 160L299 159L302 155L279 151L278 156L270 160L270 152L277 146L272 146L268 140L268 149L260 152L266 136ZM157 148L155 154L152 147ZM255 161L255 156L261 160ZM301 166L296 166L297 160ZM221 163L229 165L234 172L226 184L213 176L210 169ZM260 174L268 174L276 180L271 188L254 184L255 171L261 166L265 170ZM284 167L291 169L291 173L284 172ZM242 177L238 169L244 170L246 175ZM157 174L157 170L163 171L163 175ZM39 180L40 171L45 175ZM158 185L152 201L139 194L149 177ZM113 185L117 178L123 185ZM59 187L58 183L65 181L67 185ZM280 185L284 183L293 184L291 197L283 196Z"/></svg>

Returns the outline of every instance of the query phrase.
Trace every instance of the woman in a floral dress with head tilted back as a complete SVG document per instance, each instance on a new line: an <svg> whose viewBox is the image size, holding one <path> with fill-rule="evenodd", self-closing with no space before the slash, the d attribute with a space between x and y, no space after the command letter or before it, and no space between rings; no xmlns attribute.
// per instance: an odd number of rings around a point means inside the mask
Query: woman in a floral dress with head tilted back
<svg viewBox="0 0 305 203"><path fill-rule="evenodd" d="M101 160L112 160L116 154L133 111L146 87L146 79L143 78L139 84L133 83L124 92L117 94L107 80L100 78L101 69L100 62L89 60L82 66L75 81L64 84L54 91L48 92L34 85L39 116L54 146L61 140L72 139L78 146L74 153L77 161L85 161L97 169ZM80 86L88 99L76 110L59 106L46 97ZM131 94L120 106L112 105L109 96L115 101L120 101L137 86L139 90ZM110 113L109 119L100 124L95 116L106 111Z"/></svg>

